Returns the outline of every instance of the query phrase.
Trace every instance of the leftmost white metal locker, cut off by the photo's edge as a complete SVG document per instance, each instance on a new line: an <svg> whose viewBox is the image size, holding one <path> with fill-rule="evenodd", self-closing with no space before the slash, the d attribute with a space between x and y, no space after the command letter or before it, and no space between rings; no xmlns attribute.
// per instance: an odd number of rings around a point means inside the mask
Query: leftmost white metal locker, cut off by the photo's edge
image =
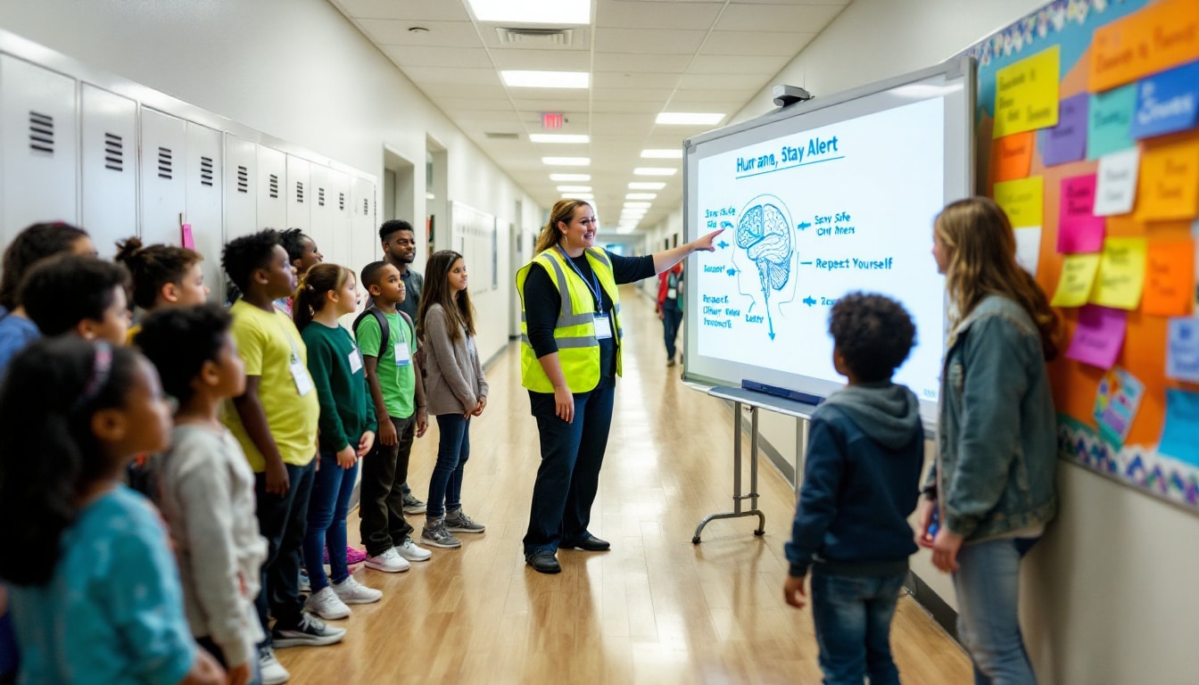
<svg viewBox="0 0 1199 685"><path fill-rule="evenodd" d="M78 223L76 80L0 54L0 241L43 221Z"/></svg>

